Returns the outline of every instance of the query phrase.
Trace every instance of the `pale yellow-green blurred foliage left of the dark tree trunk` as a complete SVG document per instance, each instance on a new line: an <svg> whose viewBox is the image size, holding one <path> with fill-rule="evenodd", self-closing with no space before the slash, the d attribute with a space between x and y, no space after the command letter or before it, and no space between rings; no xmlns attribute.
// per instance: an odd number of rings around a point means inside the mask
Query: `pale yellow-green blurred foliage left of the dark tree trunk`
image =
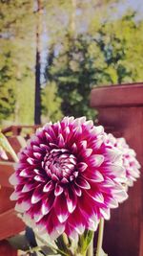
<svg viewBox="0 0 143 256"><path fill-rule="evenodd" d="M33 120L32 12L31 1L0 2L0 122Z"/></svg>

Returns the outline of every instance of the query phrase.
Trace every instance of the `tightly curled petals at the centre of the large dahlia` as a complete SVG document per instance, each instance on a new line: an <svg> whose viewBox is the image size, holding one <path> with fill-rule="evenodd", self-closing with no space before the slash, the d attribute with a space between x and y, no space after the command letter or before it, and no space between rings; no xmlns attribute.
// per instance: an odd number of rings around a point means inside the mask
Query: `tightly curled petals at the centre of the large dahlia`
<svg viewBox="0 0 143 256"><path fill-rule="evenodd" d="M44 157L45 170L51 170L51 174L58 178L69 178L75 170L76 157L65 149L54 149Z"/></svg>

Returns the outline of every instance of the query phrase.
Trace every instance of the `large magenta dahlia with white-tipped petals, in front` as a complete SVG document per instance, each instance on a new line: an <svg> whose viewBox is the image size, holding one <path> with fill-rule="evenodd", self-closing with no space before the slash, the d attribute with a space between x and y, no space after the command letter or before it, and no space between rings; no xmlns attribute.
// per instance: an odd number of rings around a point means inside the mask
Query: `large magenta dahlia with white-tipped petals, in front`
<svg viewBox="0 0 143 256"><path fill-rule="evenodd" d="M96 230L100 218L109 219L110 209L127 198L121 153L104 143L105 136L85 117L38 129L10 177L16 210L54 238Z"/></svg>

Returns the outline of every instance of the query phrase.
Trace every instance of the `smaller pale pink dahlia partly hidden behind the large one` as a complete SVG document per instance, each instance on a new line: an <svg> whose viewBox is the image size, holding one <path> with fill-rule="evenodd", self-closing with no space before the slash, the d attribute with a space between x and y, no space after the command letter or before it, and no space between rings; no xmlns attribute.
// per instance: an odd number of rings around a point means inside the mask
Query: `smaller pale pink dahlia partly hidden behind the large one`
<svg viewBox="0 0 143 256"><path fill-rule="evenodd" d="M133 181L140 176L140 164L136 159L136 153L129 147L124 138L115 138L112 134L107 135L108 145L112 144L119 151L122 152L123 166L126 170L128 186L133 186Z"/></svg>

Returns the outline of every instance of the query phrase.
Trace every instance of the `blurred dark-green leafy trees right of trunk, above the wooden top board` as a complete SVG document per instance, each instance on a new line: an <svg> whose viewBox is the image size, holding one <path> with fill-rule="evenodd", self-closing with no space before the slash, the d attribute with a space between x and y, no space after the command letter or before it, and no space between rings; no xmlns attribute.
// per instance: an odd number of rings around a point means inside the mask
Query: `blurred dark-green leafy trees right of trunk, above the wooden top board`
<svg viewBox="0 0 143 256"><path fill-rule="evenodd" d="M128 12L96 29L94 25L89 34L75 38L67 34L58 52L57 44L51 46L46 77L57 85L64 115L93 118L89 106L93 86L143 81L143 22L134 17Z"/></svg>

